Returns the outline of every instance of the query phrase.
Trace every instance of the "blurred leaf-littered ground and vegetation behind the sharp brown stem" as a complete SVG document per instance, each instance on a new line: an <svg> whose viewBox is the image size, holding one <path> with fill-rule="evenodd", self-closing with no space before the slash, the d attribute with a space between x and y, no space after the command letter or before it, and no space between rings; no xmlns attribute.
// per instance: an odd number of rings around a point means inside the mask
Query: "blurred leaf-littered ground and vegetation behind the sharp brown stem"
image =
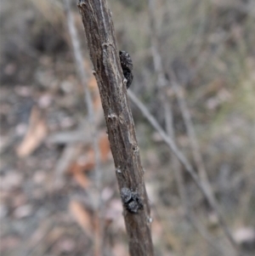
<svg viewBox="0 0 255 256"><path fill-rule="evenodd" d="M1 1L3 256L128 255L82 20L76 1L69 10L66 3ZM209 181L235 243L254 255L254 0L108 3L118 48L133 59L130 90ZM69 21L81 44L83 82ZM85 92L92 97L99 161ZM130 105L155 255L235 255L214 209Z"/></svg>

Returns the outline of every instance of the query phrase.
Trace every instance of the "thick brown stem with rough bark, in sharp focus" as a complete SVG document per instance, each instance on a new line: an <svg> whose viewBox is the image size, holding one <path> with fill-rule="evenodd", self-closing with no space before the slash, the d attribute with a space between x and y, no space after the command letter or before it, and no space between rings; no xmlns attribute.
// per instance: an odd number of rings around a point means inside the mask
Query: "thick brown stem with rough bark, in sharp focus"
<svg viewBox="0 0 255 256"><path fill-rule="evenodd" d="M88 51L99 86L116 179L122 193L129 253L131 256L152 256L150 206L144 186L144 170L116 48L111 11L106 0L80 0L77 5L82 15ZM123 195L127 191L131 191L129 196L132 198L128 199L128 195Z"/></svg>

